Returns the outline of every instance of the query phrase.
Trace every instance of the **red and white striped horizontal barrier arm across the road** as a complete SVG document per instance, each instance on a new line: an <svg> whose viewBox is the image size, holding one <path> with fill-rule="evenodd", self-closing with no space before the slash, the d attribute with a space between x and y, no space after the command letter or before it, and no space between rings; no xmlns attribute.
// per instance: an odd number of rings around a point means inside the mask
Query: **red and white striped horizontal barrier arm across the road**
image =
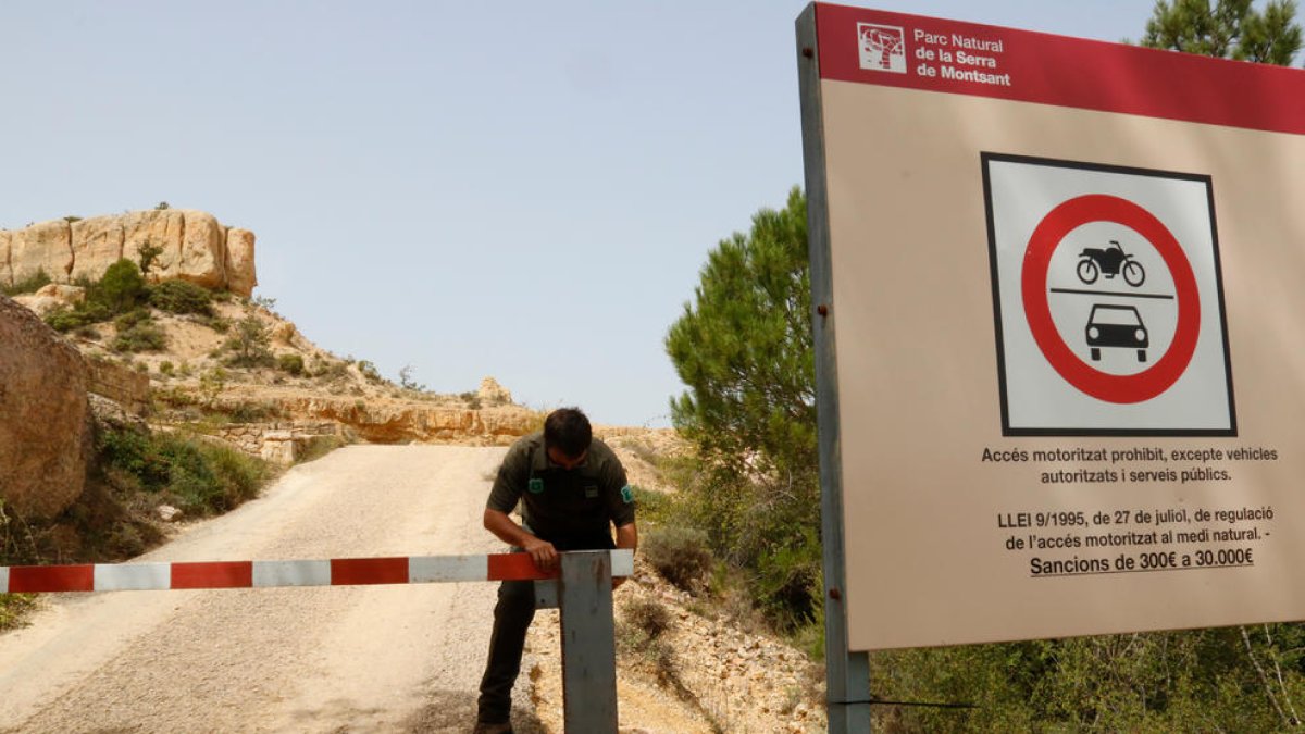
<svg viewBox="0 0 1305 734"><path fill-rule="evenodd" d="M613 550L612 576L634 573L634 551ZM0 593L268 589L556 579L530 555L414 555L329 560L217 560L201 563L94 563L0 566Z"/></svg>

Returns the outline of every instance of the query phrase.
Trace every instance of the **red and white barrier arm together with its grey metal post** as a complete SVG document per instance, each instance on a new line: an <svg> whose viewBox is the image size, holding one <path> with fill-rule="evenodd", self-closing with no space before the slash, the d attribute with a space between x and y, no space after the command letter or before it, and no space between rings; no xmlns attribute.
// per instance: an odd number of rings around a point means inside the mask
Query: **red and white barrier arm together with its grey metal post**
<svg viewBox="0 0 1305 734"><path fill-rule="evenodd" d="M616 630L612 577L634 573L634 551L559 554L542 572L529 554L0 566L0 593L269 589L450 581L547 581L540 606L561 609L566 731L616 734ZM556 599L553 603L551 601Z"/></svg>

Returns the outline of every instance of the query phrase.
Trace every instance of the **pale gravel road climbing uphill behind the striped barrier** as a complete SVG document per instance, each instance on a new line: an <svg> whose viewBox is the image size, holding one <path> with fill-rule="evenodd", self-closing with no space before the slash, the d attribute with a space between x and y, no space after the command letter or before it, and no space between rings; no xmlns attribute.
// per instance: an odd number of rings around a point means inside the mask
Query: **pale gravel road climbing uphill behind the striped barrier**
<svg viewBox="0 0 1305 734"><path fill-rule="evenodd" d="M140 560L500 552L480 513L502 451L347 447ZM484 582L48 596L0 636L0 730L468 731L493 596ZM538 729L529 710L514 718Z"/></svg>

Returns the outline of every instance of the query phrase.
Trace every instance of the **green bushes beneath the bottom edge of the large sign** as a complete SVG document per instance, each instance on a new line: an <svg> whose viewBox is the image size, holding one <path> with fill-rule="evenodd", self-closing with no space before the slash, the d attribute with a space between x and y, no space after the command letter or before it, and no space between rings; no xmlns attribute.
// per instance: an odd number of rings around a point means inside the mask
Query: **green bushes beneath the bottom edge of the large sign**
<svg viewBox="0 0 1305 734"><path fill-rule="evenodd" d="M1293 623L881 652L870 690L979 704L877 709L898 731L1287 731L1302 641Z"/></svg>

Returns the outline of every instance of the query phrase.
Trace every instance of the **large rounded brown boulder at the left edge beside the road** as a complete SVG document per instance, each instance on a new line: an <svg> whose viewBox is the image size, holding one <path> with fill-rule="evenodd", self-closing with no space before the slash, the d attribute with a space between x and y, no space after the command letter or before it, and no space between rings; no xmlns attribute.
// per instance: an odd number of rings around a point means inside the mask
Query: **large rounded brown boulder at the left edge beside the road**
<svg viewBox="0 0 1305 734"><path fill-rule="evenodd" d="M40 319L3 295L0 345L0 498L20 515L52 517L86 481L86 366Z"/></svg>

